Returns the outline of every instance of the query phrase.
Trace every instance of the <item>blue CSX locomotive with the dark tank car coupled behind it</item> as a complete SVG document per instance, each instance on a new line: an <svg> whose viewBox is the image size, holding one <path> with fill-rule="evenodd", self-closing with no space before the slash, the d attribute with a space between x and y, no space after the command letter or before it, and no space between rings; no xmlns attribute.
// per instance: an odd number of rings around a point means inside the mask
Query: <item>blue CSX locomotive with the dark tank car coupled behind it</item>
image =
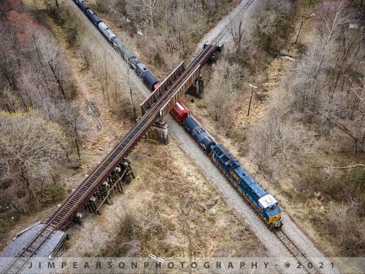
<svg viewBox="0 0 365 274"><path fill-rule="evenodd" d="M283 225L278 202L241 167L238 160L228 149L217 145L212 138L191 117L184 120L184 126L202 146L212 161L223 171L231 183L247 199L253 208L265 220L269 229L278 229Z"/></svg>

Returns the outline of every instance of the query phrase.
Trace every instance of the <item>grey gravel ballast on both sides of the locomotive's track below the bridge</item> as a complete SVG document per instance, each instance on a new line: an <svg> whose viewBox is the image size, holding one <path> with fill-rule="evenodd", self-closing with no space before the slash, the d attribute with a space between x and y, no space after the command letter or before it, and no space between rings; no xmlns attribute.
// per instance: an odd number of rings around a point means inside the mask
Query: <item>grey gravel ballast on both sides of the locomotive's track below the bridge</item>
<svg viewBox="0 0 365 274"><path fill-rule="evenodd" d="M235 208L242 216L245 218L245 224L251 228L255 233L257 238L265 245L267 248L268 255L270 257L283 257L282 263L279 265L283 266L287 262L287 258L292 258L292 254L288 249L281 243L281 241L266 228L265 224L261 221L260 217L256 215L250 205L244 202L243 197L237 193L227 182L226 178L220 174L218 169L212 164L207 155L205 155L199 148L199 145L195 140L188 134L188 132L181 127L172 115L165 117L168 123L168 133L169 135L179 143L179 146L186 155L197 164L203 173L205 173L206 178L210 179L211 183L214 183L218 189L222 192L222 195L226 196L228 203ZM204 126L204 125L203 125ZM207 132L209 134L209 132ZM217 140L215 140L217 142ZM219 143L219 142L217 142ZM245 164L241 163L242 167L245 168ZM292 220L283 212L284 228L283 231L287 233L291 240L301 249L301 251L306 254L308 258L312 257L324 257L322 252L314 247L313 243L304 235L292 222ZM292 261L292 262L291 262ZM295 260L289 260L291 265L296 266ZM321 273L334 273L329 271L330 262L324 258L318 260L315 259L313 262L323 262L327 269L323 269ZM283 269L284 273L301 273L300 269Z"/></svg>

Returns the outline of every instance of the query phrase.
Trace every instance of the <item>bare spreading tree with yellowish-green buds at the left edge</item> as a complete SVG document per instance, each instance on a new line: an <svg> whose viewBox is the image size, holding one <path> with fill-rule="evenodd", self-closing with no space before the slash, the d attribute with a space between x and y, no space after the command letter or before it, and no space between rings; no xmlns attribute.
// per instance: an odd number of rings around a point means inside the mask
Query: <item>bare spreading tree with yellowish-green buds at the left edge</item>
<svg viewBox="0 0 365 274"><path fill-rule="evenodd" d="M0 142L1 189L7 190L9 201L27 196L39 203L45 189L54 184L51 172L63 166L65 134L37 111L0 111Z"/></svg>

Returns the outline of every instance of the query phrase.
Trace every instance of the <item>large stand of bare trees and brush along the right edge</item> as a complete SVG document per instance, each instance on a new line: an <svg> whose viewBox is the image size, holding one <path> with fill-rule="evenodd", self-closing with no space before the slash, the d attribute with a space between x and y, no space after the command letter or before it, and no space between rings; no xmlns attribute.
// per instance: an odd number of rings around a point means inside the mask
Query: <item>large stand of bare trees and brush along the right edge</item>
<svg viewBox="0 0 365 274"><path fill-rule="evenodd" d="M359 16L344 1L322 4L311 42L283 83L262 122L253 130L258 163L274 179L296 171L293 199L318 193L324 214L305 214L326 238L349 256L364 254L364 32L349 28ZM258 137L258 138L257 138ZM256 139L257 138L257 139ZM354 163L355 162L355 163ZM331 165L316 170L312 165ZM322 215L322 216L321 216ZM346 220L344 221L346 216ZM341 239L341 241L338 241ZM355 244L356 243L356 244Z"/></svg>

